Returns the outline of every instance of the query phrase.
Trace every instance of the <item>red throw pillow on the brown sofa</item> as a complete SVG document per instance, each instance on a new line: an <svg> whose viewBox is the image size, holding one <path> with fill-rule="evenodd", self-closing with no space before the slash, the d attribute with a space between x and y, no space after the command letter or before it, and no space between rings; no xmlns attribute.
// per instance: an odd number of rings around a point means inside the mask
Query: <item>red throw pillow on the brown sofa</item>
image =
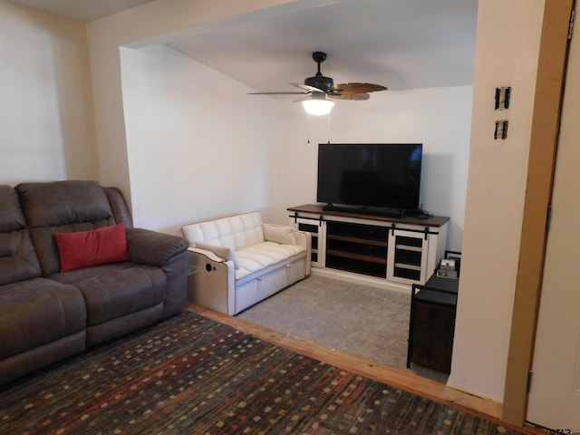
<svg viewBox="0 0 580 435"><path fill-rule="evenodd" d="M61 272L127 260L124 224L57 233L55 237L61 254Z"/></svg>

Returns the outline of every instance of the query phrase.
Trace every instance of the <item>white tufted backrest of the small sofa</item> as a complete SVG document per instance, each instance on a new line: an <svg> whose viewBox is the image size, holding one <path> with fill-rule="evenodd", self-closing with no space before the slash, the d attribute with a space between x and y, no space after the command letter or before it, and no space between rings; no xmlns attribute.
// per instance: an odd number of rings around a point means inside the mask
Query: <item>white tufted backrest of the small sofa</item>
<svg viewBox="0 0 580 435"><path fill-rule="evenodd" d="M259 211L185 225L181 227L181 232L191 247L205 242L237 251L264 241Z"/></svg>

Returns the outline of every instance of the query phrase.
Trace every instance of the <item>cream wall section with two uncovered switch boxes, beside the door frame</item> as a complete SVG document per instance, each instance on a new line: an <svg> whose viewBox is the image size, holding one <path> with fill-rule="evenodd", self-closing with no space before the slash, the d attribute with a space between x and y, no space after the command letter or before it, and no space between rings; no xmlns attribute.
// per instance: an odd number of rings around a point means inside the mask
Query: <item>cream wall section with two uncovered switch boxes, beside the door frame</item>
<svg viewBox="0 0 580 435"><path fill-rule="evenodd" d="M506 381L543 10L543 1L478 6L468 200L448 383L498 401ZM512 88L506 112L494 111L497 86ZM507 140L493 139L498 119L509 120Z"/></svg>

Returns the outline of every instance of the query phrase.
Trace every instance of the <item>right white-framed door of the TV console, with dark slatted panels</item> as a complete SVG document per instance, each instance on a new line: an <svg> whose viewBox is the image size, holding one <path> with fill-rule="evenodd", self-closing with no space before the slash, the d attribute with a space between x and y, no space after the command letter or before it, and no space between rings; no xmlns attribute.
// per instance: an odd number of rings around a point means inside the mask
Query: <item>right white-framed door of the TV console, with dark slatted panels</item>
<svg viewBox="0 0 580 435"><path fill-rule="evenodd" d="M389 232L387 279L402 284L425 284L429 237L415 231Z"/></svg>

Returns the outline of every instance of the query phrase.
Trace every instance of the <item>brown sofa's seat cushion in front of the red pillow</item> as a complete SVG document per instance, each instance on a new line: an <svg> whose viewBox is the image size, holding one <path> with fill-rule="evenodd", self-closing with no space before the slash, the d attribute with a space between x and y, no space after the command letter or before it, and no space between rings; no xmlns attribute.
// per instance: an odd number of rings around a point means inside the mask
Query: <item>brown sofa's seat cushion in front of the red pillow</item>
<svg viewBox="0 0 580 435"><path fill-rule="evenodd" d="M72 284L81 291L86 302L88 326L158 305L162 313L167 293L167 277L159 267L131 262L86 267L49 278Z"/></svg>

